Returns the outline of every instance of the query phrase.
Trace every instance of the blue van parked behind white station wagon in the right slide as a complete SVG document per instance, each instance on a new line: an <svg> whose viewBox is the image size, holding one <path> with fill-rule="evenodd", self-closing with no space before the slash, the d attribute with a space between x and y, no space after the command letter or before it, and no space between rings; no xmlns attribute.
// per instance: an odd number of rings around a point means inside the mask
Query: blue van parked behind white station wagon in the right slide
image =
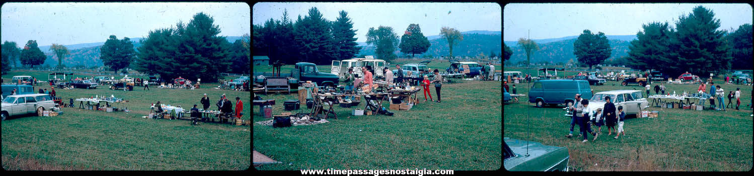
<svg viewBox="0 0 754 176"><path fill-rule="evenodd" d="M544 105L566 104L575 102L574 96L581 94L581 99L591 99L592 89L587 80L537 80L529 89L529 102L536 103L537 108Z"/></svg>

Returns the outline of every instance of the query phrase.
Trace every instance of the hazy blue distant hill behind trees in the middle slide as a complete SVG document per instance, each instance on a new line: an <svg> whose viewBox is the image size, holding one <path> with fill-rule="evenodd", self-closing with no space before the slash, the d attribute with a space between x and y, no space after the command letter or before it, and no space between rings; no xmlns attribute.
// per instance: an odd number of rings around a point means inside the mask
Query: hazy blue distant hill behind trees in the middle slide
<svg viewBox="0 0 754 176"><path fill-rule="evenodd" d="M495 53L501 53L502 48L502 33L500 31L467 31L461 32L464 36L464 40L460 41L458 45L453 47L454 56L478 56L480 53L489 55L489 52L495 50ZM422 55L432 56L448 56L450 53L448 42L440 38L440 35L432 35L427 37L430 42L430 47L426 53L417 54L416 57ZM362 46L358 55L375 55L376 47L366 46L366 43L358 42L359 46ZM398 56L403 56L405 53L400 53L400 49L396 53Z"/></svg>

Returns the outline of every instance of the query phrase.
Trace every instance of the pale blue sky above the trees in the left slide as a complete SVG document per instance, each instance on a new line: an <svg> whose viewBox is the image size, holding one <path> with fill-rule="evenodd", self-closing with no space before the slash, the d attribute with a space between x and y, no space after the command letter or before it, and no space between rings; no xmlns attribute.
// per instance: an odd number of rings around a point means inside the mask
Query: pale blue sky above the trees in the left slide
<svg viewBox="0 0 754 176"><path fill-rule="evenodd" d="M149 31L189 23L199 12L214 18L222 36L250 34L247 3L5 3L0 40L26 41L38 46L104 42L118 38L146 38ZM46 52L46 51L44 51Z"/></svg>

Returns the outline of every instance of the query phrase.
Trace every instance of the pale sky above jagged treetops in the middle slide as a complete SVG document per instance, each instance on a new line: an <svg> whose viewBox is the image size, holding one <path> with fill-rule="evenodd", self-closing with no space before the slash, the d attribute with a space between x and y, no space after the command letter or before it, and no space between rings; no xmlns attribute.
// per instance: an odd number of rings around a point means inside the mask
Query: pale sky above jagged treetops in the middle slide
<svg viewBox="0 0 754 176"><path fill-rule="evenodd" d="M252 23L264 25L271 18L280 20L285 10L295 22L299 15L307 16L310 8L317 8L330 21L339 17L339 11L348 12L357 29L358 42L366 42L366 32L371 27L390 26L400 36L412 23L418 24L425 36L440 35L443 26L460 32L502 31L502 11L497 3L260 2L253 6Z"/></svg>

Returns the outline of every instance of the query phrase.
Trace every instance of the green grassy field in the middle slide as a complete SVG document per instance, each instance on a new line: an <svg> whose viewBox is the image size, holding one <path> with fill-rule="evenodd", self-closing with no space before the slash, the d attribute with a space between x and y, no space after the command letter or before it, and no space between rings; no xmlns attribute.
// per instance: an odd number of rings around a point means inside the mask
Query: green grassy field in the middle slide
<svg viewBox="0 0 754 176"><path fill-rule="evenodd" d="M428 101L410 111L391 110L392 117L351 116L352 109L364 108L362 102L358 107L336 107L338 119L328 119L329 123L282 129L253 123L254 149L284 162L258 169L495 170L501 168L501 90L499 81L464 80L443 85L442 103ZM431 91L436 96L434 88ZM277 101L273 114L286 112L282 102L297 97L259 96ZM383 106L387 108L389 102ZM302 105L291 112L309 111ZM255 113L253 120L268 119Z"/></svg>

